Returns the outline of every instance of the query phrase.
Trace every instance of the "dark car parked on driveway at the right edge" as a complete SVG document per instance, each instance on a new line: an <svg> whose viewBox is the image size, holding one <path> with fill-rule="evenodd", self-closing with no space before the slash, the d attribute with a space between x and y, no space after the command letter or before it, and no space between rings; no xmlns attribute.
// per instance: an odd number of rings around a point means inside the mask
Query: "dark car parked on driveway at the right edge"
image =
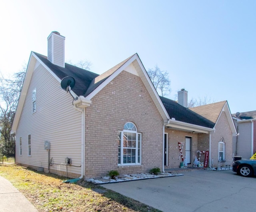
<svg viewBox="0 0 256 212"><path fill-rule="evenodd" d="M243 177L256 175L256 160L236 160L232 170Z"/></svg>

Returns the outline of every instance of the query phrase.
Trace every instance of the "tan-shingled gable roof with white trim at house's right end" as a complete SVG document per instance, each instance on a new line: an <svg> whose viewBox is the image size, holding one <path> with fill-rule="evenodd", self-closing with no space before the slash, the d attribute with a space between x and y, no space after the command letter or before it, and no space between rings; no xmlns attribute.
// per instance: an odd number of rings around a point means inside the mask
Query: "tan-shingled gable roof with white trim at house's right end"
<svg viewBox="0 0 256 212"><path fill-rule="evenodd" d="M226 112L226 116L228 118L228 123L230 125L232 133L237 133L234 120L232 118L227 101L206 104L189 109L212 121L215 124L215 126L216 123L218 122L218 119L220 118L220 114L222 113L222 111L224 111Z"/></svg>

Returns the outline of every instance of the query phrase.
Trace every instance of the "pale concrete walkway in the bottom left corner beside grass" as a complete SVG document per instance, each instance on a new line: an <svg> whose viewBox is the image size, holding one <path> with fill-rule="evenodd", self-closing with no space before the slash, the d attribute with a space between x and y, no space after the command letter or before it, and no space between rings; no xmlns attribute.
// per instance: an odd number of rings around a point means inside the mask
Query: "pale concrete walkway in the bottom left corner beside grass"
<svg viewBox="0 0 256 212"><path fill-rule="evenodd" d="M38 212L8 180L0 176L0 212Z"/></svg>

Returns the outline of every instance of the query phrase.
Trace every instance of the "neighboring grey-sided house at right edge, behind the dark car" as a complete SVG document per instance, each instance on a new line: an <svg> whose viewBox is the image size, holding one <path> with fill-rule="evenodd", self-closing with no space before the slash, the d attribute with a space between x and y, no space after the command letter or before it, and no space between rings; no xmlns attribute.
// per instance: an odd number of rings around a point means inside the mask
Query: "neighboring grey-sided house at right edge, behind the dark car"
<svg viewBox="0 0 256 212"><path fill-rule="evenodd" d="M233 154L244 159L256 152L256 110L232 114L238 136L233 137Z"/></svg>

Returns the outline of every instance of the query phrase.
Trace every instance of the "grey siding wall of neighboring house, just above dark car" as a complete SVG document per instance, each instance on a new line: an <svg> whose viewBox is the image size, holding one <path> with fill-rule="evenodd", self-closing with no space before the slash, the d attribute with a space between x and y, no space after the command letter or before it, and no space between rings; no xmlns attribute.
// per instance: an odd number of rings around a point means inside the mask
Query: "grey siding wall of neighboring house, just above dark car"
<svg viewBox="0 0 256 212"><path fill-rule="evenodd" d="M252 156L252 122L238 123L239 136L237 141L237 155L243 159Z"/></svg>

